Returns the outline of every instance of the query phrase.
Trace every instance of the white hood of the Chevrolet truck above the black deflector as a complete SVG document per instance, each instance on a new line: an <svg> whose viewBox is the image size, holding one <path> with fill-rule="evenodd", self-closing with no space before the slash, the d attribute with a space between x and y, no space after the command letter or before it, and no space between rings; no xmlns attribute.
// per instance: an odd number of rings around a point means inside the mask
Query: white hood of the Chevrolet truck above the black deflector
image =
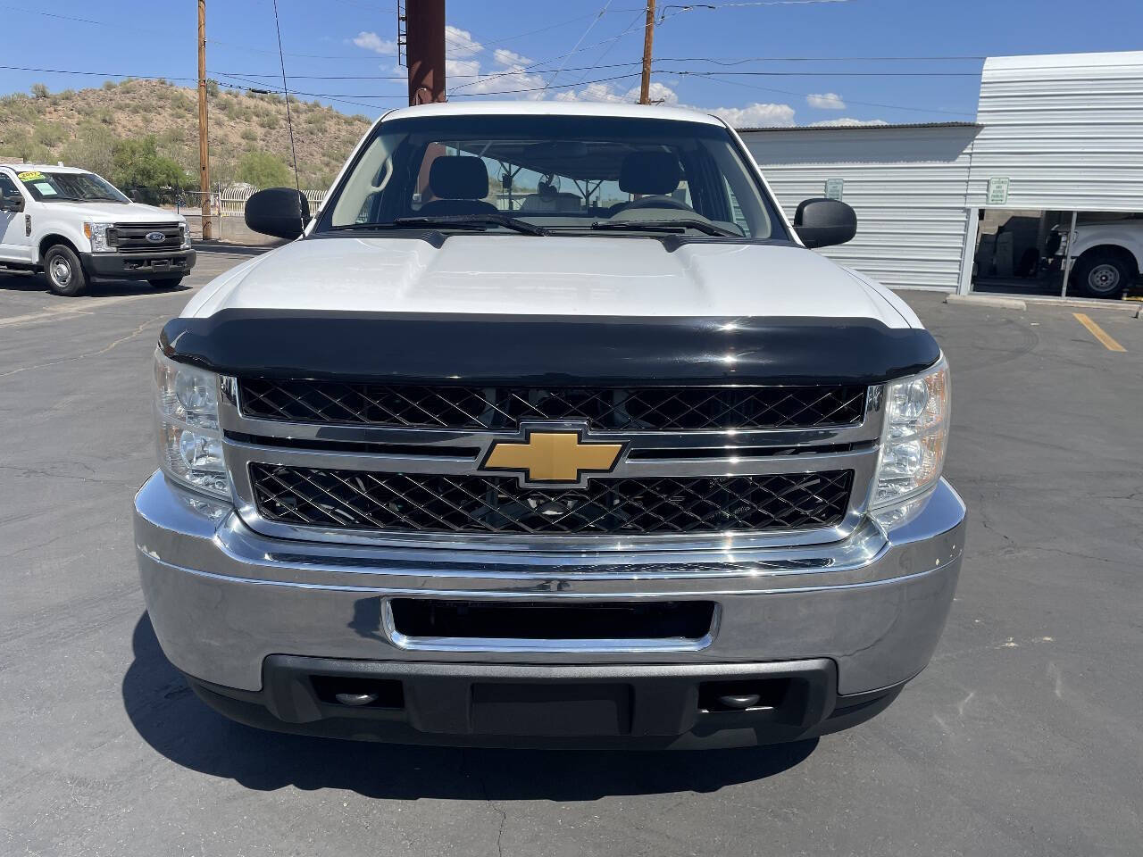
<svg viewBox="0 0 1143 857"><path fill-rule="evenodd" d="M872 283L785 245L646 238L453 235L295 241L205 287L225 309L607 317L815 317L910 327Z"/></svg>

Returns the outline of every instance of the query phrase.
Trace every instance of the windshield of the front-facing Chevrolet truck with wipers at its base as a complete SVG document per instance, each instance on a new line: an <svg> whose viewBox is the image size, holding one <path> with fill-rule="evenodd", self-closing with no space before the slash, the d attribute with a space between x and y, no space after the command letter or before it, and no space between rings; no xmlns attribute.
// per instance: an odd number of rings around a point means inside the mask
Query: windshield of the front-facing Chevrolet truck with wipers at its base
<svg viewBox="0 0 1143 857"><path fill-rule="evenodd" d="M382 122L315 230L448 229L457 218L489 231L515 218L549 234L789 239L726 128L612 117Z"/></svg>

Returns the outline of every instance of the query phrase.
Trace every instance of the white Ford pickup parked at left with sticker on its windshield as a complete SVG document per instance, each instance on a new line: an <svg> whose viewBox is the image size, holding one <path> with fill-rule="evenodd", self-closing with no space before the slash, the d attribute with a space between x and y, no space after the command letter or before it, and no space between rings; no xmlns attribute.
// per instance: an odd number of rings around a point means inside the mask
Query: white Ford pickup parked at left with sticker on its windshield
<svg viewBox="0 0 1143 857"><path fill-rule="evenodd" d="M0 165L0 269L43 272L72 297L101 280L173 288L192 267L179 215L131 202L87 170Z"/></svg>

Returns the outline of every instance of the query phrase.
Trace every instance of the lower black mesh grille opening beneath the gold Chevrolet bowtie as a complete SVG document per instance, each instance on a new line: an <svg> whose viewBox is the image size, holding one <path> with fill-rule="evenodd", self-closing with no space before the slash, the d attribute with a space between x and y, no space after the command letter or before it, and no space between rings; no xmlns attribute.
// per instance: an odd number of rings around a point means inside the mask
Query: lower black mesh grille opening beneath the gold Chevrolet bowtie
<svg viewBox="0 0 1143 857"><path fill-rule="evenodd" d="M596 479L521 488L511 476L382 473L251 463L263 518L333 529L640 535L830 527L853 471Z"/></svg>

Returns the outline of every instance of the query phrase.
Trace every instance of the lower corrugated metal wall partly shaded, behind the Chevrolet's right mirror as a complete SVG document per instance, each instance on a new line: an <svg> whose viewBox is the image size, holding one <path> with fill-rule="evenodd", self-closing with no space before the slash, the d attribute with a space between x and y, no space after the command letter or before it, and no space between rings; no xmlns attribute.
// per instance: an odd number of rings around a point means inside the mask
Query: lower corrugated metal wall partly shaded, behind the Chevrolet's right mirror
<svg viewBox="0 0 1143 857"><path fill-rule="evenodd" d="M970 125L740 131L780 203L822 197L830 178L857 237L821 253L886 286L956 289L967 226Z"/></svg>

